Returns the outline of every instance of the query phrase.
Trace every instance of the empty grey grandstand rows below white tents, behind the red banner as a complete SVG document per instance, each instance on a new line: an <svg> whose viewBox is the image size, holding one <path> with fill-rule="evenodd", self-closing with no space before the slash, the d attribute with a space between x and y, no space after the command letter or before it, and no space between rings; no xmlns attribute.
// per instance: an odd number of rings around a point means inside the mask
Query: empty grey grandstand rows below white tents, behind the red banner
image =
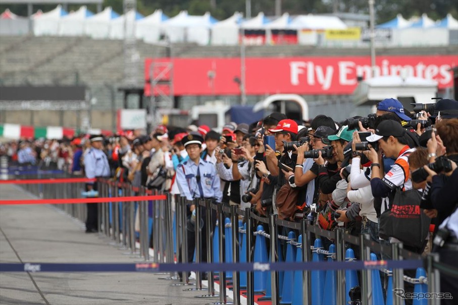
<svg viewBox="0 0 458 305"><path fill-rule="evenodd" d="M86 37L2 36L0 41L0 79L5 85L56 84L120 84L123 79L123 41L94 40ZM143 59L163 57L166 47L137 42L140 56L139 85L142 84ZM455 54L454 46L439 48L387 48L379 53L390 54ZM316 48L304 45L246 46L247 57L262 56L326 56L369 55L363 48ZM200 46L178 43L172 45L177 57L237 57L240 46Z"/></svg>

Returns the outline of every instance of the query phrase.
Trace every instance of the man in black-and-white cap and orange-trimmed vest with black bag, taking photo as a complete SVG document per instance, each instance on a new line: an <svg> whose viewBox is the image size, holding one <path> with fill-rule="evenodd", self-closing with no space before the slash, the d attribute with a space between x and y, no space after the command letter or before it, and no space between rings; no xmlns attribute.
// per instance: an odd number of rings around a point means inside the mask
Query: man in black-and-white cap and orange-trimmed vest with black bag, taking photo
<svg viewBox="0 0 458 305"><path fill-rule="evenodd" d="M363 153L372 162L371 164L371 190L374 198L382 198L379 218L380 237L390 242L400 240L403 248L421 254L426 246L429 222L422 217L423 213L418 212L421 193L413 190L409 168L409 156L415 151L408 145L409 137L398 121L383 120L377 126L375 134L367 138L371 143L370 150ZM378 151L372 143L377 143ZM392 168L383 174L380 168L382 154L387 158L395 158ZM393 211L394 208L394 212ZM396 218L391 213L409 213L410 218ZM427 217L426 217L427 218ZM415 225L416 227L413 227ZM384 243L381 240L381 243ZM382 253L383 259L389 259L390 255ZM404 274L410 277L415 276L415 270L404 270ZM406 292L413 292L414 285L404 283Z"/></svg>

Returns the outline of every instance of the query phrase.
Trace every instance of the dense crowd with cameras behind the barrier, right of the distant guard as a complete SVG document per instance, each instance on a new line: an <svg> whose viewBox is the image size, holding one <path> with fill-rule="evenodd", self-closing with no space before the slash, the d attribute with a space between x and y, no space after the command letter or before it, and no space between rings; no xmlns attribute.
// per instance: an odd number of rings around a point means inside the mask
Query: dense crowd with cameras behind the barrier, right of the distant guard
<svg viewBox="0 0 458 305"><path fill-rule="evenodd" d="M367 233L382 245L400 240L404 249L436 251L455 266L458 102L415 110L408 115L387 98L376 113L340 123L317 115L297 124L274 112L251 125L227 124L221 134L207 126L161 125L149 136L118 134L105 153L117 180L187 197L189 217L191 200L208 198L261 216ZM67 158L75 172L84 169L90 145L91 139L71 142ZM285 228L279 232L287 235ZM333 242L322 240L325 248ZM458 298L458 281L441 275L441 290Z"/></svg>

